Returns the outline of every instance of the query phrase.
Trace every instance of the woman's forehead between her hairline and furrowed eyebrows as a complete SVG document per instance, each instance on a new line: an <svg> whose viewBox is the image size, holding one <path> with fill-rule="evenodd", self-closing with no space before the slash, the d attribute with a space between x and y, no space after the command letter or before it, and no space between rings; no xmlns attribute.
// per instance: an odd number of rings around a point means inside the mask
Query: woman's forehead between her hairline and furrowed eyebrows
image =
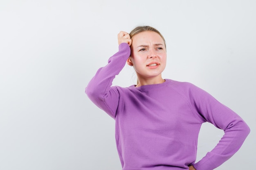
<svg viewBox="0 0 256 170"><path fill-rule="evenodd" d="M143 31L132 37L132 44L164 44L164 39L154 31Z"/></svg>

